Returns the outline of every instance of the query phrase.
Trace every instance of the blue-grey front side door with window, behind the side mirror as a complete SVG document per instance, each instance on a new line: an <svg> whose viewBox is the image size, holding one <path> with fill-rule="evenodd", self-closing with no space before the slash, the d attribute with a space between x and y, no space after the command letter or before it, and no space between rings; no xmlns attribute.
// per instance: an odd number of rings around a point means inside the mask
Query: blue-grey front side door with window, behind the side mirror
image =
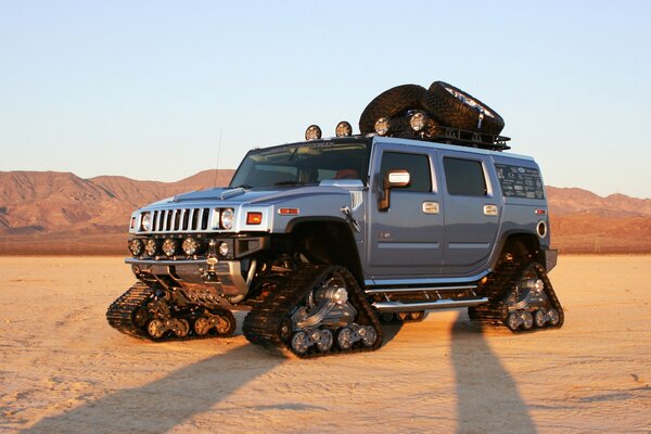
<svg viewBox="0 0 651 434"><path fill-rule="evenodd" d="M443 259L443 214L436 191L433 151L379 144L373 151L369 209L368 270L373 278L434 276ZM390 170L407 170L410 183L390 191L390 206L379 209Z"/></svg>

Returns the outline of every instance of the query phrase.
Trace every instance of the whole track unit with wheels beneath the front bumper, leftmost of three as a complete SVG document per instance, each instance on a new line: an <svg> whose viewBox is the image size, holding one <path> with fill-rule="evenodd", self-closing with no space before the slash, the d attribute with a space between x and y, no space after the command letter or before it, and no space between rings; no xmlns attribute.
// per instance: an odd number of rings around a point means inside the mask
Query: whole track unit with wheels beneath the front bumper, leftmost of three
<svg viewBox="0 0 651 434"><path fill-rule="evenodd" d="M235 318L229 310L196 305L179 308L168 297L164 291L138 282L108 306L106 320L125 334L151 341L226 337L235 331Z"/></svg>

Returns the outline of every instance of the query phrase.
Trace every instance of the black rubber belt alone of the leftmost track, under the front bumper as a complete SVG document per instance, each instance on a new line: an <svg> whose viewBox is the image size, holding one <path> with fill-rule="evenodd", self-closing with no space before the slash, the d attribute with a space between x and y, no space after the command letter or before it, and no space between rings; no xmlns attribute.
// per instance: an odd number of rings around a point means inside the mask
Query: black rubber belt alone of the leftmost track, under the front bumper
<svg viewBox="0 0 651 434"><path fill-rule="evenodd" d="M174 333L168 333L161 339L152 337L144 329L139 328L133 322L133 315L139 308L148 303L154 293L155 290L149 288L146 284L141 282L135 283L133 286L129 288L123 295L117 297L117 299L115 299L111 306L108 306L108 309L106 310L106 320L108 321L108 324L122 333L151 342L194 341L210 337L232 336L232 333L222 335L208 333L205 336L199 336L191 331L190 334L184 337L179 337ZM230 320L234 324L235 319L232 316L232 312L229 310L225 310L224 312L225 315L231 316Z"/></svg>

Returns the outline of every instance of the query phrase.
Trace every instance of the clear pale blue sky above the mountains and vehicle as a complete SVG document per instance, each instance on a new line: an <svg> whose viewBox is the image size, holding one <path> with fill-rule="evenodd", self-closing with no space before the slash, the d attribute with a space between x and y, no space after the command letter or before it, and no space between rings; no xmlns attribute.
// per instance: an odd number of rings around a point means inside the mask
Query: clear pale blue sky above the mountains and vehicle
<svg viewBox="0 0 651 434"><path fill-rule="evenodd" d="M546 182L651 197L649 1L0 0L0 170L174 181L445 80Z"/></svg>

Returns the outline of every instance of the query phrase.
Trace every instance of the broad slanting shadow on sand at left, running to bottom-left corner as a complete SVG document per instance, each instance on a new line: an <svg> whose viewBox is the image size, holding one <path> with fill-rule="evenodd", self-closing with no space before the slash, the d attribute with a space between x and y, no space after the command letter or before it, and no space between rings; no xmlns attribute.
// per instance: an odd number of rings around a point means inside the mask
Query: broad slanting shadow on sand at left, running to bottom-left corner
<svg viewBox="0 0 651 434"><path fill-rule="evenodd" d="M384 344L393 340L399 329L399 324L385 328ZM22 432L166 432L208 411L240 387L286 361L254 345L243 345L149 384L116 391L63 414L44 418Z"/></svg>

